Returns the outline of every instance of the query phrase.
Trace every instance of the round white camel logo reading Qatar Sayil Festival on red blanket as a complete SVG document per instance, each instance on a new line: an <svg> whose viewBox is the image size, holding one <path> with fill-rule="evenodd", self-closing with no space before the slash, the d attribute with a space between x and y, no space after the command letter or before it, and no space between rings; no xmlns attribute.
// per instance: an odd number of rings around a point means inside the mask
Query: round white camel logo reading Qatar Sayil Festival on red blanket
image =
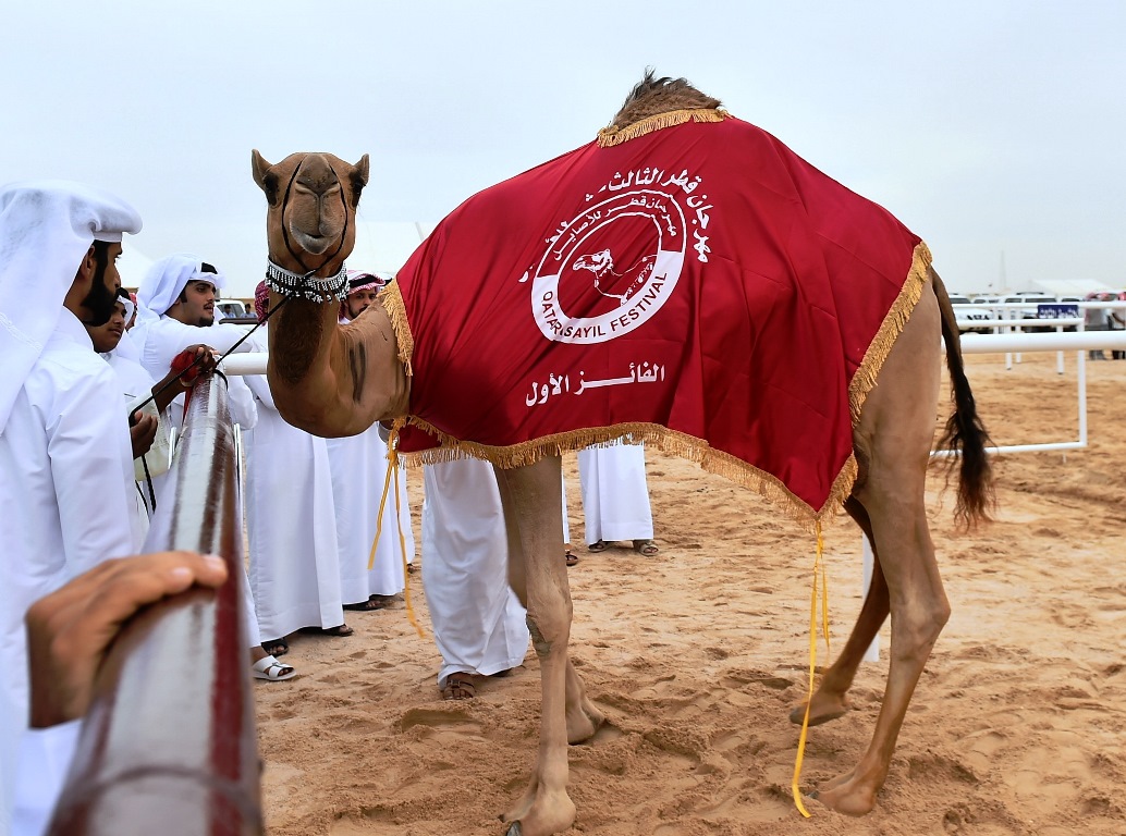
<svg viewBox="0 0 1126 836"><path fill-rule="evenodd" d="M533 275L536 324L548 340L587 345L641 327L677 286L686 239L664 191L622 191L584 209L560 225Z"/></svg>

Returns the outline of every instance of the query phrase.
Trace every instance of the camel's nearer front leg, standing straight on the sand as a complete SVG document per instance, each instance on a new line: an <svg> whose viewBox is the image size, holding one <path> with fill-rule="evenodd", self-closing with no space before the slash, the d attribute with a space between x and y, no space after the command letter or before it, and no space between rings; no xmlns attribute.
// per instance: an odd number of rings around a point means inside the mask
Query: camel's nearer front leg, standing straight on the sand
<svg viewBox="0 0 1126 836"><path fill-rule="evenodd" d="M543 693L539 752L528 789L501 817L509 825L508 836L549 836L569 828L575 817L574 802L566 793L568 641L572 606L562 559L560 471L558 457L510 470L497 468L508 533L509 579L528 609ZM578 674L572 675L578 678Z"/></svg>

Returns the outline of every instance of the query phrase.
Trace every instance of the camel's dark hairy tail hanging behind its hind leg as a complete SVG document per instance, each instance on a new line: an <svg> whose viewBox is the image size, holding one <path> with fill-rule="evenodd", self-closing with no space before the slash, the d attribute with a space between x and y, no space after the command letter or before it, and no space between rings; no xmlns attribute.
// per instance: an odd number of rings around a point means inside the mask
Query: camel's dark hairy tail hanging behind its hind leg
<svg viewBox="0 0 1126 836"><path fill-rule="evenodd" d="M931 270L931 282L942 314L946 368L950 374L950 399L954 402L954 413L946 422L938 449L953 450L954 458L960 460L958 502L954 509L954 516L959 523L972 527L977 522L988 521L995 504L993 466L985 451L990 438L977 415L974 394L969 388L969 380L966 379L962 362L962 339L950 297L947 296L946 286L933 270ZM953 459L950 467L953 471Z"/></svg>

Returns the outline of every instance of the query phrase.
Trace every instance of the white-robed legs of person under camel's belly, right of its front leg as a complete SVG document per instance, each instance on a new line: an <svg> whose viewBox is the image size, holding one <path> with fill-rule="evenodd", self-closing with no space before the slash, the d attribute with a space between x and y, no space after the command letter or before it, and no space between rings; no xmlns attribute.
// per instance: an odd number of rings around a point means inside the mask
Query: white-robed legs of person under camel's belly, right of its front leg
<svg viewBox="0 0 1126 836"><path fill-rule="evenodd" d="M580 450L579 480L588 549L605 551L609 542L633 540L635 551L658 552L642 444L618 441Z"/></svg>

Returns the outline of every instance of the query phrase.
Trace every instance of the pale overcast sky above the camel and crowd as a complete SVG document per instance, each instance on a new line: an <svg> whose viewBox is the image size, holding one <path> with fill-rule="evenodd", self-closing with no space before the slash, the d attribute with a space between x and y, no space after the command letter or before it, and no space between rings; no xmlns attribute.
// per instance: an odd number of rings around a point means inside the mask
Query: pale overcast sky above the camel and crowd
<svg viewBox="0 0 1126 836"><path fill-rule="evenodd" d="M229 295L266 260L252 147L368 153L360 217L432 225L591 141L646 66L886 206L951 290L1126 286L1118 0L14 0L3 28L0 182L109 188L126 246Z"/></svg>

